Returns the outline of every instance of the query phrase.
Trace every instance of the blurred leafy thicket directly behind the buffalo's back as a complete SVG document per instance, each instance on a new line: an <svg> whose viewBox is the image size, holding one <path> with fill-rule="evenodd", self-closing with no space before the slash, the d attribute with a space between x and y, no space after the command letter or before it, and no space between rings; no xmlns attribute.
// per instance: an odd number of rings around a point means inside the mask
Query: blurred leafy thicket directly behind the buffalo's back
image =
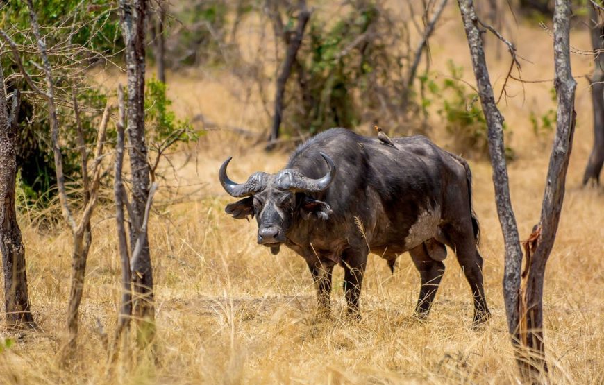
<svg viewBox="0 0 604 385"><path fill-rule="evenodd" d="M286 90L292 107L285 109L285 135L352 128L361 122L382 125L380 121L400 132L408 122L401 69L410 51L397 48L397 33L405 28L395 26L378 1L347 4L350 11L336 19L321 19L316 13L310 19ZM290 11L286 33L295 24Z"/></svg>

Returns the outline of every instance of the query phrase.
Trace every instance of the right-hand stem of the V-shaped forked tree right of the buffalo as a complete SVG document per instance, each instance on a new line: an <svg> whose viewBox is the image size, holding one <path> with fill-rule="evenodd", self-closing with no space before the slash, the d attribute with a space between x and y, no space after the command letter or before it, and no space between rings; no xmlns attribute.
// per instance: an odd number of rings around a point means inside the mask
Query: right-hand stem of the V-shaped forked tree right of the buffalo
<svg viewBox="0 0 604 385"><path fill-rule="evenodd" d="M528 274L523 279L519 339L528 348L528 365L522 368L526 377L537 381L540 372L547 372L543 340L543 280L545 266L553 248L564 201L569 159L575 131L575 89L577 83L571 73L570 30L571 3L555 0L553 17L554 37L554 85L557 94L556 135L551 152L541 218L530 237L527 264ZM523 311L523 312L524 312Z"/></svg>

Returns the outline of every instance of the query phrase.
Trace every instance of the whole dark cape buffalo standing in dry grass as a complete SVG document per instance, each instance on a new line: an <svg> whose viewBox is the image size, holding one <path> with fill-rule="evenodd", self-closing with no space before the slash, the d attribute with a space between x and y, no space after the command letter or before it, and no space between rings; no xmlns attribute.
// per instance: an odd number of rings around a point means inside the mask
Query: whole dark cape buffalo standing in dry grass
<svg viewBox="0 0 604 385"><path fill-rule="evenodd" d="M258 243L274 254L285 244L306 260L324 314L330 312L333 266L344 268L347 311L357 317L367 254L382 255L392 268L408 251L421 275L415 311L428 316L448 245L471 287L473 323L481 323L490 313L469 166L426 137L392 142L396 146L332 128L301 144L285 169L253 173L242 184L227 176L229 157L219 171L221 185L244 198L226 212L236 219L255 216Z"/></svg>

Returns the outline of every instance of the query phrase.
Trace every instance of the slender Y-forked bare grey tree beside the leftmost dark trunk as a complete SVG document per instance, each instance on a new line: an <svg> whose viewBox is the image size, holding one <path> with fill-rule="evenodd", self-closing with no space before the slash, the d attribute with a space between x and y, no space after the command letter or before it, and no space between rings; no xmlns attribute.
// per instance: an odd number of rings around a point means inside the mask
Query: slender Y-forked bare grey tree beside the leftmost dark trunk
<svg viewBox="0 0 604 385"><path fill-rule="evenodd" d="M78 315L80 303L82 300L82 293L84 289L86 262L88 257L88 251L90 250L90 244L92 243L92 234L90 233L90 221L92 219L94 207L97 205L97 197L102 175L101 159L103 154L103 144L105 142L105 133L109 120L111 106L109 104L106 106L105 111L103 112L103 117L101 118L101 122L99 124L99 128L97 130L97 144L94 150L94 160L92 164L92 180L90 180L90 185L88 185L88 189L85 193L88 198L83 208L83 213L80 221L76 221L76 219L74 219L74 215L72 214L72 209L69 206L67 191L65 189L65 175L63 173L62 153L59 145L59 122L57 117L57 105L54 92L54 80L47 54L46 42L44 42L44 38L40 33L40 25L37 22L37 16L35 14L35 9L33 7L32 1L28 0L27 5L29 8L31 28L35 36L35 40L37 42L37 47L40 52L40 56L42 58L42 69L44 78L47 83L46 91L42 91L42 89L39 89L37 87L33 87L33 89L38 94L44 96L44 99L46 99L47 101L51 127L51 146L54 155L59 200L63 217L67 222L67 225L69 225L70 230L72 230L74 239L74 248L72 251L72 286L69 291L69 304L67 308L68 337L62 350L62 359L65 360L72 357L72 353L75 351L76 348L76 337L78 335ZM13 51L13 54L16 56L17 62L20 62L20 59L18 58L18 53L15 53L15 51ZM28 74L25 71L22 72L22 75L26 79L28 79ZM27 81L28 84L33 85L31 79ZM74 106L74 110L77 110L77 107ZM87 157L85 156L85 151L83 152L83 154L84 156L81 162L84 164L87 163ZM86 169L86 167L83 166L83 169Z"/></svg>

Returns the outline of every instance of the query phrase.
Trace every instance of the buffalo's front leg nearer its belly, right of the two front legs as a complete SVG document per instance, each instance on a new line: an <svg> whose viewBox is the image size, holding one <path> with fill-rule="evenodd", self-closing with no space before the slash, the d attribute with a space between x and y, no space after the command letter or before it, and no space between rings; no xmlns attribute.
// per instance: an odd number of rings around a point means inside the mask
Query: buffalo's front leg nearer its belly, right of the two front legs
<svg viewBox="0 0 604 385"><path fill-rule="evenodd" d="M360 318L359 298L367 264L367 252L346 250L342 260L344 262L344 296L348 305L346 311L349 316Z"/></svg>

